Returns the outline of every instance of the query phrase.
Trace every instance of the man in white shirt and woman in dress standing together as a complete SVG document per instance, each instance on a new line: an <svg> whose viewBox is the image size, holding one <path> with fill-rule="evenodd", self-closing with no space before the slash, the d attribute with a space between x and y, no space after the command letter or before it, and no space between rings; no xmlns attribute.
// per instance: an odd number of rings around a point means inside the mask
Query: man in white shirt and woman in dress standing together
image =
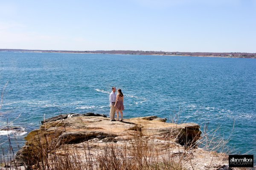
<svg viewBox="0 0 256 170"><path fill-rule="evenodd" d="M109 95L109 102L110 102L110 121L115 120L115 114L117 116L117 120L119 121L119 111L121 113L121 122L123 121L123 114L122 111L125 110L124 107L124 95L122 94L122 90L119 88L118 94L116 94L116 88L112 87L112 92Z"/></svg>

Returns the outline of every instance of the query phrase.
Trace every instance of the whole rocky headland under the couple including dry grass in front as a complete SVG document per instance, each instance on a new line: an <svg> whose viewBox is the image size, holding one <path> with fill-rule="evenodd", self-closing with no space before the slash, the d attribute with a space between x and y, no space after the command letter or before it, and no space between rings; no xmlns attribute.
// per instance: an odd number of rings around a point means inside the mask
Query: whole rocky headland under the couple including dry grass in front
<svg viewBox="0 0 256 170"><path fill-rule="evenodd" d="M110 122L92 113L55 118L29 133L26 145L15 160L9 165L6 162L4 167L37 170L213 170L227 167L225 154L198 147L201 142L205 143L207 133L200 139L197 124L177 125L165 120L148 116Z"/></svg>

